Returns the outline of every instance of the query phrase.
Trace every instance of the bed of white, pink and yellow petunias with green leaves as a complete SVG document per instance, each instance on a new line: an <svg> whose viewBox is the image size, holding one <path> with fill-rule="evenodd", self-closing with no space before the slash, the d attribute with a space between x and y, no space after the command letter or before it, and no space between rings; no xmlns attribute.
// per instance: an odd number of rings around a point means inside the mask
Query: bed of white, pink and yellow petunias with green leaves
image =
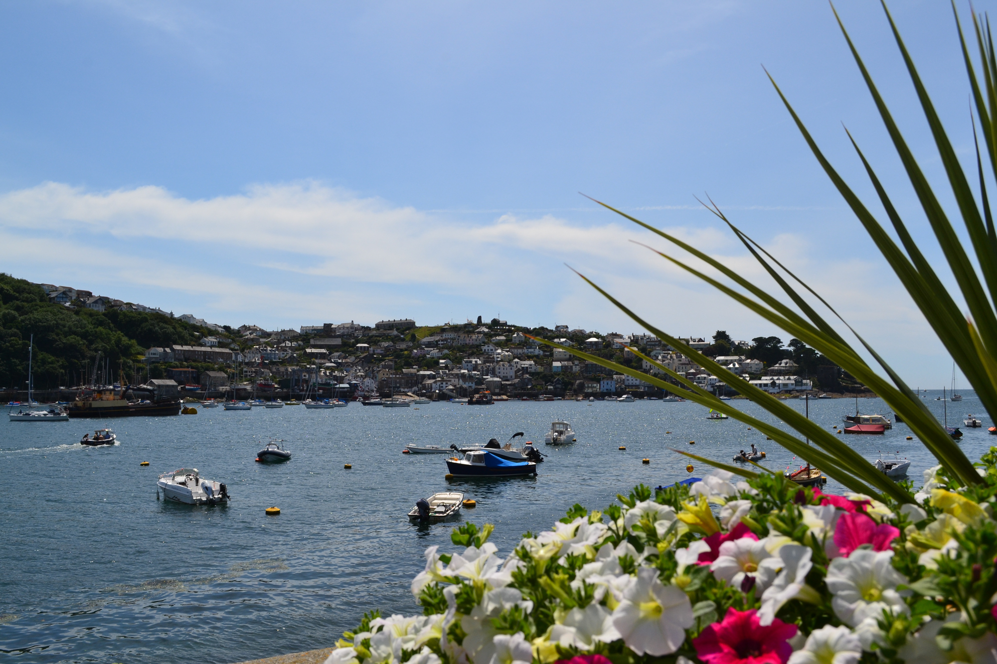
<svg viewBox="0 0 997 664"><path fill-rule="evenodd" d="M326 664L997 662L997 448L977 466L925 471L919 504L715 471L576 504L504 559L467 523L426 550L423 615L365 614Z"/></svg>

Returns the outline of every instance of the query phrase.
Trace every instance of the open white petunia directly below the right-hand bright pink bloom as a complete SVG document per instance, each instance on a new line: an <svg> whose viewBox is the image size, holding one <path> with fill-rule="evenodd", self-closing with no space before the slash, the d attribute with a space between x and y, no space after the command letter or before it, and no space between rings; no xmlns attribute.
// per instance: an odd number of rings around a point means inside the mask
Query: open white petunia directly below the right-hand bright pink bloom
<svg viewBox="0 0 997 664"><path fill-rule="evenodd" d="M883 610L907 613L909 609L897 592L907 578L893 569L893 551L859 548L846 557L831 560L828 566L828 589L834 595L831 607L846 625L854 627L867 617L877 617Z"/></svg>

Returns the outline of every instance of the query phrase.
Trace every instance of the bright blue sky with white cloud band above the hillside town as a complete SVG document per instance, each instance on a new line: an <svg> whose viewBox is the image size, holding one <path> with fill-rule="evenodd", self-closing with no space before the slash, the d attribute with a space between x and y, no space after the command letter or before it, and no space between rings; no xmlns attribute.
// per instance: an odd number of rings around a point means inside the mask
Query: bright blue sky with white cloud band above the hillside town
<svg viewBox="0 0 997 664"><path fill-rule="evenodd" d="M881 9L836 7L937 177ZM950 8L893 12L969 158ZM674 333L788 340L578 193L756 273L706 191L911 381L950 371L762 69L870 200L853 132L933 246L826 3L5 3L0 63L17 276L232 325L634 331L569 263Z"/></svg>

